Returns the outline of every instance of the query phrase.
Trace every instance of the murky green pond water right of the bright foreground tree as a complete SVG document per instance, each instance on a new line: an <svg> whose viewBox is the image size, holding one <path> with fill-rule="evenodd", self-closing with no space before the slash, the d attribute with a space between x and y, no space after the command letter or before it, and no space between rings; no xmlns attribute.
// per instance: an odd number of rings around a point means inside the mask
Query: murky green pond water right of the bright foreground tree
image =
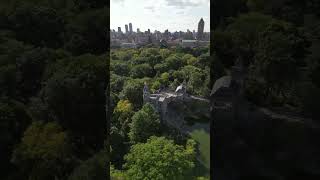
<svg viewBox="0 0 320 180"><path fill-rule="evenodd" d="M203 129L196 129L190 133L191 137L199 143L200 160L205 168L210 169L210 134ZM209 173L209 172L208 172Z"/></svg>

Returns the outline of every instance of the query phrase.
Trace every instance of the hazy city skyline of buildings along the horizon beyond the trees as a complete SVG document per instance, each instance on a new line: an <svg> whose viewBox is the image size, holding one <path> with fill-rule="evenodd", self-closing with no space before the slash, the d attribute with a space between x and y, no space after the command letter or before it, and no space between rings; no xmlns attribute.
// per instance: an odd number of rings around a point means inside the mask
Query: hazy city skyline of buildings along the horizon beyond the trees
<svg viewBox="0 0 320 180"><path fill-rule="evenodd" d="M125 25L125 31L118 27L118 30L110 30L111 47L121 48L137 48L145 45L159 45L165 47L177 46L182 47L199 47L206 46L210 42L210 32L204 32L204 21L201 18L198 23L198 31L187 30L187 32L169 32L165 30L160 32L155 30L151 32L150 29L147 31L133 31L132 23L129 26Z"/></svg>

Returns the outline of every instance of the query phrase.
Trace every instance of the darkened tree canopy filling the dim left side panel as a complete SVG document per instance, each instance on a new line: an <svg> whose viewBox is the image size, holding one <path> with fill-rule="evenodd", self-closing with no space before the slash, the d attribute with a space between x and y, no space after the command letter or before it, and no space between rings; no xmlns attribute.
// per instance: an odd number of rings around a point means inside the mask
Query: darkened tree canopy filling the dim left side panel
<svg viewBox="0 0 320 180"><path fill-rule="evenodd" d="M107 5L0 2L0 179L66 179L78 165L70 159L101 150L108 129ZM64 152L70 146L75 151Z"/></svg>

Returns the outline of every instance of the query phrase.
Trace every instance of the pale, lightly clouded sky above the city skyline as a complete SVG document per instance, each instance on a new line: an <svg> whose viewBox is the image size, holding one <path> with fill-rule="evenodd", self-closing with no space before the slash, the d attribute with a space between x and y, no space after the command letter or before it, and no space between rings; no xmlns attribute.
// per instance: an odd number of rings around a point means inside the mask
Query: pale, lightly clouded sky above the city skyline
<svg viewBox="0 0 320 180"><path fill-rule="evenodd" d="M133 31L154 30L198 31L204 20L204 31L210 31L210 0L111 0L110 28L125 31L132 23Z"/></svg>

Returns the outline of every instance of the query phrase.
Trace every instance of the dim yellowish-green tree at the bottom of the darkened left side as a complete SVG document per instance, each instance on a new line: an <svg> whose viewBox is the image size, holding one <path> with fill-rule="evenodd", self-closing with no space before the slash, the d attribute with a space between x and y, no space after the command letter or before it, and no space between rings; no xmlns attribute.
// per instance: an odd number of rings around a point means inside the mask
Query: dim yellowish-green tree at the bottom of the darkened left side
<svg viewBox="0 0 320 180"><path fill-rule="evenodd" d="M64 178L73 163L68 136L55 122L33 122L14 150L12 161L29 179Z"/></svg>

